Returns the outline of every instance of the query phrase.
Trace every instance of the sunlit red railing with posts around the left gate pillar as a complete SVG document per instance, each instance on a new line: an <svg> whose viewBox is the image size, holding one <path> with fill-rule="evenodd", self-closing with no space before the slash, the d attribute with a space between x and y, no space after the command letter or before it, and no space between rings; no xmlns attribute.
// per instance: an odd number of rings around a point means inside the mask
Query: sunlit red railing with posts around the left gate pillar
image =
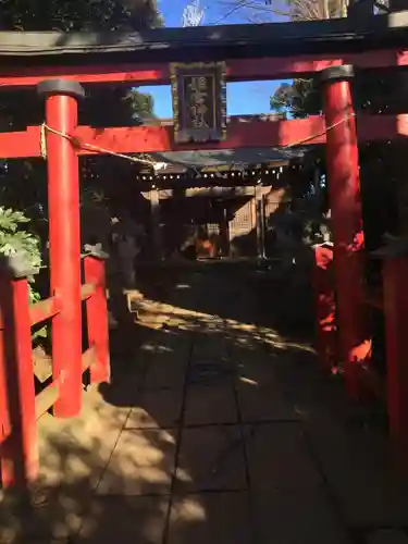
<svg viewBox="0 0 408 544"><path fill-rule="evenodd" d="M110 380L108 308L103 257L84 257L88 349L82 372L89 369L91 383ZM0 271L0 422L1 481L4 487L26 486L38 477L37 420L60 398L64 376L35 392L32 326L52 320L62 311L58 295L28 304L27 274L13 267ZM53 378L55 372L53 372Z"/></svg>

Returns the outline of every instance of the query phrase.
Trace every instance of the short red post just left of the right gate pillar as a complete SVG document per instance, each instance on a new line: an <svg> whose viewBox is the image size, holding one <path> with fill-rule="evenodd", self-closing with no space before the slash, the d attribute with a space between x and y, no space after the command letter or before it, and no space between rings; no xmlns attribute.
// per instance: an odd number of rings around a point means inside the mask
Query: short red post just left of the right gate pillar
<svg viewBox="0 0 408 544"><path fill-rule="evenodd" d="M334 295L333 247L314 248L313 289L317 313L317 348L325 370L335 372L338 364L336 306Z"/></svg>

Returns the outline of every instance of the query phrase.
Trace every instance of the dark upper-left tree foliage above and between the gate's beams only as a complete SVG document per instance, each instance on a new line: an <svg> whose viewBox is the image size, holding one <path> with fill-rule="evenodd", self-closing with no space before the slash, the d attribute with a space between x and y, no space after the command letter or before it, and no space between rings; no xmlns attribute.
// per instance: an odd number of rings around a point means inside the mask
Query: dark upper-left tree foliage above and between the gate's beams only
<svg viewBox="0 0 408 544"><path fill-rule="evenodd" d="M157 0L0 0L0 30L133 32L162 26ZM67 36L67 35L65 35ZM66 38L67 39L67 38ZM65 40L61 35L61 45ZM123 126L152 114L152 98L137 90L89 88L81 122ZM20 96L18 96L20 95ZM39 124L44 111L35 91L3 92L0 129L25 129ZM24 99L23 99L24 98Z"/></svg>

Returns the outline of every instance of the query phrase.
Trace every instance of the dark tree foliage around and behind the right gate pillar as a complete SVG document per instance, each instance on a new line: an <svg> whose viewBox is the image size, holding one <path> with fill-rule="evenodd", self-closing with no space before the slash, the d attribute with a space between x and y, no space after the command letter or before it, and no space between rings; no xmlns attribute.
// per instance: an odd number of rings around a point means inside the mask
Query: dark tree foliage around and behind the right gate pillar
<svg viewBox="0 0 408 544"><path fill-rule="evenodd" d="M357 73L353 83L356 111L370 114L408 111L408 100L401 91L405 88L404 77L405 74L395 73ZM280 86L271 98L271 108L287 111L294 118L306 118L321 111L320 94L311 79L295 79L292 85ZM398 143L379 141L360 144L359 151L366 245L373 250L382 244L385 231L396 234L400 230L397 200L404 171L400 165L405 163L406 148L399 149ZM323 193L327 200L326 188Z"/></svg>

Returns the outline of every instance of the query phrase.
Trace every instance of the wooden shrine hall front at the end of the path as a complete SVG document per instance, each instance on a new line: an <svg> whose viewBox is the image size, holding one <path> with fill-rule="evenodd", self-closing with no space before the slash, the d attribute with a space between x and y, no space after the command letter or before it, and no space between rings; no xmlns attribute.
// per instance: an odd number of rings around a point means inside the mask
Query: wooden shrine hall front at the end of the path
<svg viewBox="0 0 408 544"><path fill-rule="evenodd" d="M259 152L237 151L235 163L228 162L225 153L225 162L220 165L209 157L205 169L196 166L194 177L188 177L184 164L173 164L172 178L168 168L156 173L154 188L144 193L151 215L143 217L145 225L140 226L150 227L152 252L158 259L255 259L267 255L268 242L273 236L280 238L290 207L296 209L296 191L300 194L307 176L310 183L317 172L311 162L300 176L299 164L277 150L264 158L267 162L256 163ZM292 154L294 159L296 156ZM228 172L215 178L220 168ZM137 223L140 218L134 214L133 221ZM272 254L273 243L269 246ZM137 261L143 261L143 257Z"/></svg>

